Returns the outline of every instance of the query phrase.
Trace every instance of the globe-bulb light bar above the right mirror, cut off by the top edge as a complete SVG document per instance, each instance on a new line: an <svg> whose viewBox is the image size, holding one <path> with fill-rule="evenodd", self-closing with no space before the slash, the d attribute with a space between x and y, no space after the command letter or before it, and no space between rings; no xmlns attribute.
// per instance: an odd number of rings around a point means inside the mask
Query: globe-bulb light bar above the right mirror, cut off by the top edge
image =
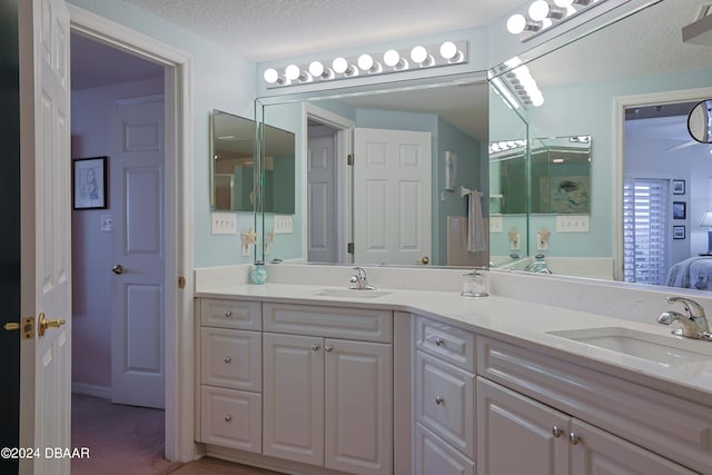
<svg viewBox="0 0 712 475"><path fill-rule="evenodd" d="M507 19L507 31L526 41L605 0L534 0L525 13Z"/></svg>

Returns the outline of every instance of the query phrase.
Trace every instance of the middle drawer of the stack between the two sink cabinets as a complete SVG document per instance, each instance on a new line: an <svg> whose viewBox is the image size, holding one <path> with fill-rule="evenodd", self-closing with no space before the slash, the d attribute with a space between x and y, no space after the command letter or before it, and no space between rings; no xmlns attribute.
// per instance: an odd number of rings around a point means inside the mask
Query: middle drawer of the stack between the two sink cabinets
<svg viewBox="0 0 712 475"><path fill-rule="evenodd" d="M416 352L415 382L416 419L475 458L475 376Z"/></svg>

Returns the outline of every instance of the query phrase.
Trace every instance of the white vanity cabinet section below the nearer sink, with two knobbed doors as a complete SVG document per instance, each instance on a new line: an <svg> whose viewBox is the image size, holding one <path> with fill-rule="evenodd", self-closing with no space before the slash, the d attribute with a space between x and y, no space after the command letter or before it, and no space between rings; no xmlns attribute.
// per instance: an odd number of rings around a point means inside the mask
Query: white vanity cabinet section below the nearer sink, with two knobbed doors
<svg viewBox="0 0 712 475"><path fill-rule="evenodd" d="M477 343L478 475L712 469L710 408L503 342Z"/></svg>

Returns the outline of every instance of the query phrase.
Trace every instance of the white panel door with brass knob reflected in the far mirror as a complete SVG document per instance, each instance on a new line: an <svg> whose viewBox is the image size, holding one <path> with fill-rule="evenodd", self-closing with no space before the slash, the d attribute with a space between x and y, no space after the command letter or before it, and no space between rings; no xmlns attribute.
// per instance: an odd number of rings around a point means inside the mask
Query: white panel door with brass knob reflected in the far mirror
<svg viewBox="0 0 712 475"><path fill-rule="evenodd" d="M431 257L429 132L354 131L354 260Z"/></svg>

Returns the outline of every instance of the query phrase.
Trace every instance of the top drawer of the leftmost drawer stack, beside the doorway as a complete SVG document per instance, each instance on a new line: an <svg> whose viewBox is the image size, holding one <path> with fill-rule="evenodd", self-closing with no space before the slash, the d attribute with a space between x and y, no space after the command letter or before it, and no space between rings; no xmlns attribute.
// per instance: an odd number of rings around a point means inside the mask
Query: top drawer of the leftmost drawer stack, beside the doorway
<svg viewBox="0 0 712 475"><path fill-rule="evenodd" d="M261 305L259 301L200 299L200 324L206 327L259 330Z"/></svg>

